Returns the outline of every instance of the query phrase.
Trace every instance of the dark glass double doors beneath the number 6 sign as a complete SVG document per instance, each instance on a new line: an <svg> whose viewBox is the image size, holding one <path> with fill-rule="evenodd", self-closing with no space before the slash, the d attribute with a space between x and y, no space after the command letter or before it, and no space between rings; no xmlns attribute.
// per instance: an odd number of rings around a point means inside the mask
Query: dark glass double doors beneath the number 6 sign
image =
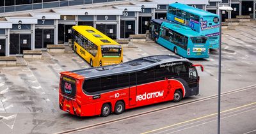
<svg viewBox="0 0 256 134"><path fill-rule="evenodd" d="M23 54L31 50L31 34L10 34L10 54Z"/></svg>

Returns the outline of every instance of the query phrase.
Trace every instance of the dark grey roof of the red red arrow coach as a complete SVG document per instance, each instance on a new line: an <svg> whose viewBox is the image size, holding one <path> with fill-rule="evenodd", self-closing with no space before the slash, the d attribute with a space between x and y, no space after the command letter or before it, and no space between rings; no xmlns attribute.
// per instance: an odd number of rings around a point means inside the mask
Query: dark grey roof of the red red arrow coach
<svg viewBox="0 0 256 134"><path fill-rule="evenodd" d="M83 70L70 71L84 78L97 78L109 75L117 75L120 73L131 73L132 71L140 71L145 68L150 68L158 64L170 63L173 61L188 61L177 56L158 55L148 56L139 59L134 59L122 64L113 64L109 66L100 66L97 68L86 68Z"/></svg>

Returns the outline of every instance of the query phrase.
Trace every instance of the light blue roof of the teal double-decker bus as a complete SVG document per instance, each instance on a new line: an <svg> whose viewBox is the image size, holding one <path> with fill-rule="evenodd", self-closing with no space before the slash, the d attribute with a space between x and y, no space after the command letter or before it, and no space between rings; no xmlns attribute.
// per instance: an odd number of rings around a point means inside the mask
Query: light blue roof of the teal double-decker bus
<svg viewBox="0 0 256 134"><path fill-rule="evenodd" d="M169 4L169 6L172 6L173 8L178 8L180 10L187 11L189 13L193 13L193 14L198 15L198 16L219 17L219 15L216 15L214 13L210 13L209 11L200 10L200 9L194 8L192 6L188 6L187 4L173 3L173 4Z"/></svg>

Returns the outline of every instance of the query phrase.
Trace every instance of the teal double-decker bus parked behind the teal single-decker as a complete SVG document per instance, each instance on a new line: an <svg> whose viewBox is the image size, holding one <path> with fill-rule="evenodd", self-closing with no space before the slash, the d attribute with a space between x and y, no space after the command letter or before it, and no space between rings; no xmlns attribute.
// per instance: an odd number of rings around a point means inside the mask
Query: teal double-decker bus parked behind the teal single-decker
<svg viewBox="0 0 256 134"><path fill-rule="evenodd" d="M167 19L209 37L209 48L219 48L219 15L186 4L169 4Z"/></svg>

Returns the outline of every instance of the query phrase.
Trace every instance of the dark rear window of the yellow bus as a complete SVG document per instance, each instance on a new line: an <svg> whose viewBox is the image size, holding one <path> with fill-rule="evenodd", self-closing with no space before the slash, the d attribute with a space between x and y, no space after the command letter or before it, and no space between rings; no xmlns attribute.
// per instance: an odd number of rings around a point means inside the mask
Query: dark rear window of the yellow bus
<svg viewBox="0 0 256 134"><path fill-rule="evenodd" d="M116 45L102 45L101 52L102 57L120 57L121 56L121 48Z"/></svg>

